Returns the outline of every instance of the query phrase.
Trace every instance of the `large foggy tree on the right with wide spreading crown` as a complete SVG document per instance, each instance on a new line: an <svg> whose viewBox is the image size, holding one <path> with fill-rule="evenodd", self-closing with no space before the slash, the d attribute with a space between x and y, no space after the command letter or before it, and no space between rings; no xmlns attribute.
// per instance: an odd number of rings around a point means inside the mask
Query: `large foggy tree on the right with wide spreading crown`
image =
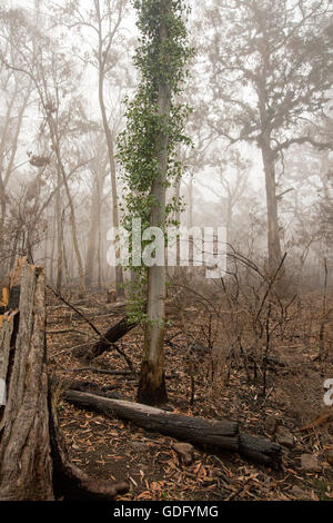
<svg viewBox="0 0 333 523"><path fill-rule="evenodd" d="M266 188L270 270L281 260L276 166L293 144L317 144L302 119L324 110L332 87L330 0L212 0L204 7L211 126L259 147Z"/></svg>

